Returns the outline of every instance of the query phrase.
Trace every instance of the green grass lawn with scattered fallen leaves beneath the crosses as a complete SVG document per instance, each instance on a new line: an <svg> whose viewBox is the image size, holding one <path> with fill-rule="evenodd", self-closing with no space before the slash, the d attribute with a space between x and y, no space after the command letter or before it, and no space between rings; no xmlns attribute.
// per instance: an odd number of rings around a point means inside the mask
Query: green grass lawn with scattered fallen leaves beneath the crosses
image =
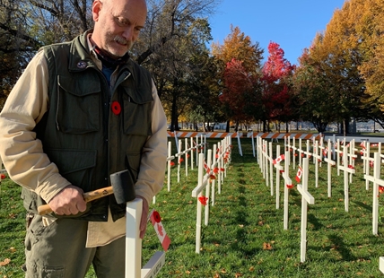
<svg viewBox="0 0 384 278"><path fill-rule="evenodd" d="M208 140L210 146L217 142ZM224 179L222 194L210 207L209 224L204 225L200 254L196 254L196 167L171 171L170 192L167 180L156 209L170 236L166 264L158 277L380 277L379 257L384 256L383 227L372 235L372 190L365 190L361 161L356 161L356 175L350 185L349 212L345 212L344 177L332 174L332 197L327 197L327 164L319 169L319 187L314 185L314 165L310 163L309 192L315 204L308 209L307 255L301 263L301 195L290 189L289 229L284 230L283 185L280 209L270 194L249 139L242 139L241 157L233 142L231 164ZM183 166L184 167L184 166ZM291 170L294 179L295 171ZM25 213L20 187L8 178L1 186L0 277L23 277L23 237ZM380 196L382 198L384 196ZM381 201L381 200L380 200ZM144 264L161 250L151 224L143 240ZM384 275L383 275L384 276ZM90 270L87 277L95 277Z"/></svg>

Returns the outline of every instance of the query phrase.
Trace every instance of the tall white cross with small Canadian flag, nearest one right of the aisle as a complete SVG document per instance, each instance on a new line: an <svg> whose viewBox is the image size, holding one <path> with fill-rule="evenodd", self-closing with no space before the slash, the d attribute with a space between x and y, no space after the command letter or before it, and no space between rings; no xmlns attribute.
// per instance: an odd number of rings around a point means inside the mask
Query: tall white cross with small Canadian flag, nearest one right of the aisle
<svg viewBox="0 0 384 278"><path fill-rule="evenodd" d="M308 176L310 172L309 158L302 161L302 184L297 185L297 189L301 193L301 263L305 262L307 249L307 211L308 204L315 204L315 198L308 192Z"/></svg>

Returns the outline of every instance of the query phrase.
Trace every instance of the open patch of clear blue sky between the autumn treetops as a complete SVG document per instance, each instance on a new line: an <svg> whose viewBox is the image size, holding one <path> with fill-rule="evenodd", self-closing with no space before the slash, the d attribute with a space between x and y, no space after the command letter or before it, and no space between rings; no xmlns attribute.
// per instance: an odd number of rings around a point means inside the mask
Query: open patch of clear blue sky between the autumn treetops
<svg viewBox="0 0 384 278"><path fill-rule="evenodd" d="M265 59L267 46L274 41L283 48L284 57L297 65L302 49L310 47L317 32L326 30L335 10L341 9L348 0L222 1L209 18L212 42L223 45L232 24L249 36L252 43L259 43Z"/></svg>

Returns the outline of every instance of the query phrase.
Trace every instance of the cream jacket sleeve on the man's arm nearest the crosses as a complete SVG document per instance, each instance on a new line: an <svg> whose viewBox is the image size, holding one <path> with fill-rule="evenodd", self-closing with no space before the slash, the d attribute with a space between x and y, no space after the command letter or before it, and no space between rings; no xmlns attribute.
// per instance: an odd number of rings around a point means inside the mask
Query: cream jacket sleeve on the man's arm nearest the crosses
<svg viewBox="0 0 384 278"><path fill-rule="evenodd" d="M153 87L152 132L142 153L140 171L135 184L136 195L143 196L148 204L160 192L167 162L167 118L161 106L157 90Z"/></svg>

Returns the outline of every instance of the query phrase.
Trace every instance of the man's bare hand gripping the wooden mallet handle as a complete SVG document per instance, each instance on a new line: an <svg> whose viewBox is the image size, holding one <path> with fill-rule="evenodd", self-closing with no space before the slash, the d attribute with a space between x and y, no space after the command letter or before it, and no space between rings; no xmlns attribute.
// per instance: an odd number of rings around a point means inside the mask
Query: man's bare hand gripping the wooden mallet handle
<svg viewBox="0 0 384 278"><path fill-rule="evenodd" d="M83 189L68 186L49 201L49 206L58 215L70 215L84 212L87 204L83 198Z"/></svg>

